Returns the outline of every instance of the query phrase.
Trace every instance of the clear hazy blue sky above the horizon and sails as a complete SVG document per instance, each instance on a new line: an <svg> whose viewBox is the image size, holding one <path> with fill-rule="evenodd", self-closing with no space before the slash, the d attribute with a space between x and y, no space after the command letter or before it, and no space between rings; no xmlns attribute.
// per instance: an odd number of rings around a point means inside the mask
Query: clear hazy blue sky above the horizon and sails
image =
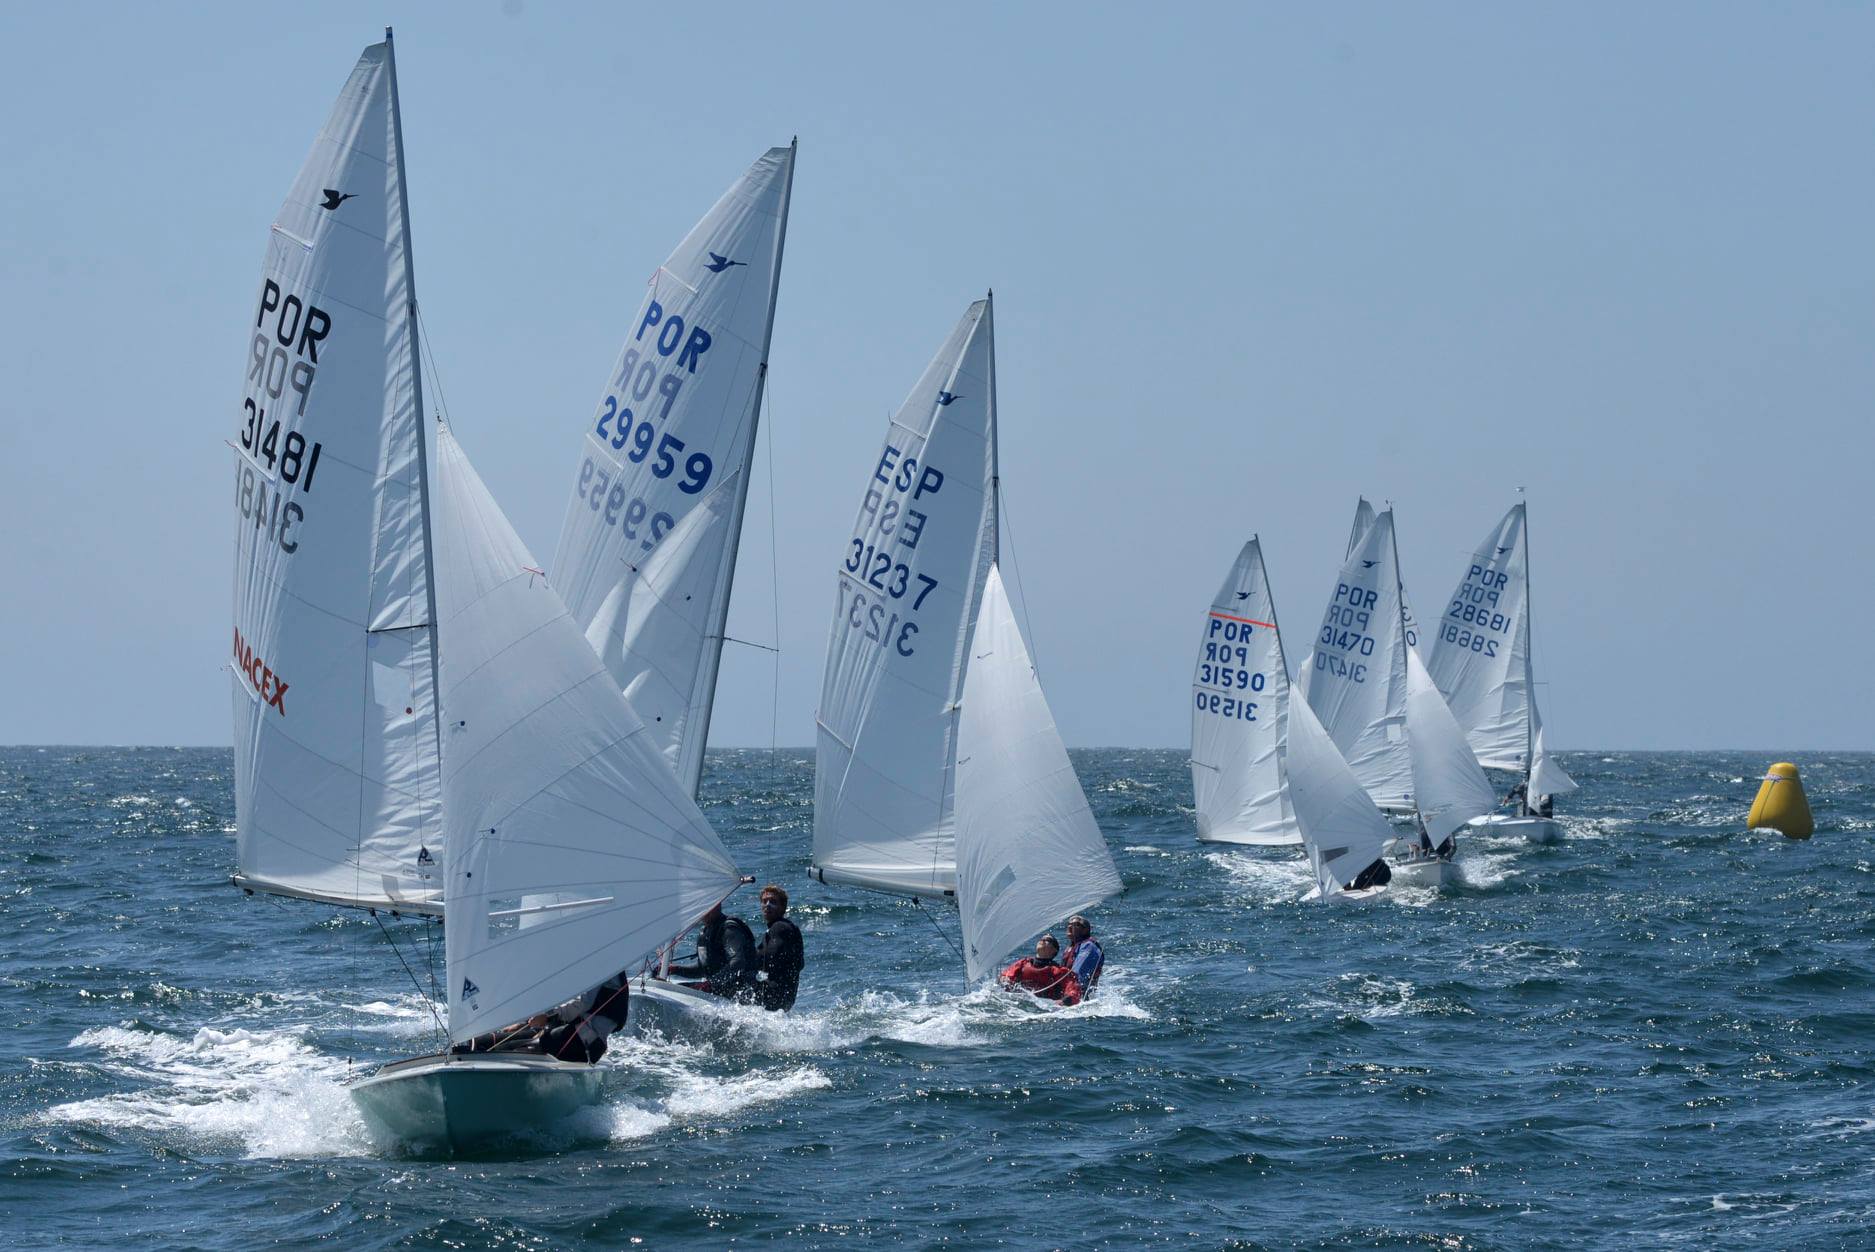
<svg viewBox="0 0 1875 1252"><path fill-rule="evenodd" d="M998 296L1071 744L1185 744L1256 530L1292 658L1356 497L1432 611L1530 493L1556 746L1869 748L1875 9L0 7L0 742L229 738L266 229L398 26L441 394L551 557L643 279L801 135L731 633L808 744L885 416ZM767 744L728 654L714 742Z"/></svg>

